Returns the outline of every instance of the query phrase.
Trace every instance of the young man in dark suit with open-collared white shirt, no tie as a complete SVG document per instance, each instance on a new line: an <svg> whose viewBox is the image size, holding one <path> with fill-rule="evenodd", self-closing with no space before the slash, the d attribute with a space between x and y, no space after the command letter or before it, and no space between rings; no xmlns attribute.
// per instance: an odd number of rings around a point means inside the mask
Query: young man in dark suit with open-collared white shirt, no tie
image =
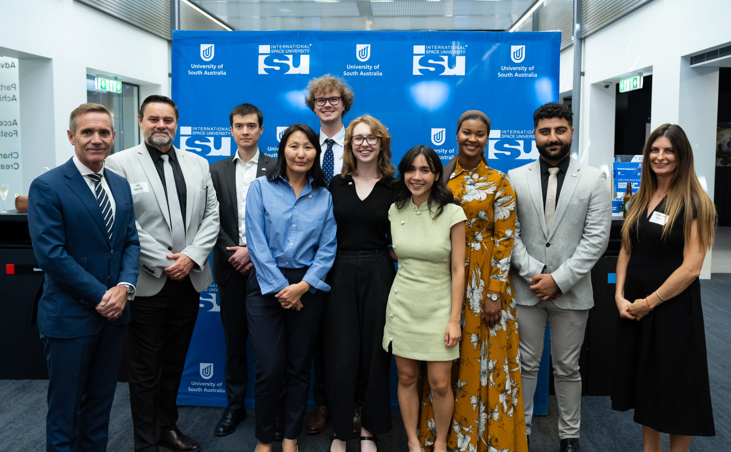
<svg viewBox="0 0 731 452"><path fill-rule="evenodd" d="M251 104L240 104L229 115L231 135L238 145L234 156L211 164L211 178L219 196L221 230L213 247L213 279L219 286L221 322L226 338L226 393L228 406L213 434L233 433L246 418L243 399L246 397L246 281L251 271L251 258L246 248L246 194L257 177L276 163L258 148L264 131L261 110Z"/></svg>

